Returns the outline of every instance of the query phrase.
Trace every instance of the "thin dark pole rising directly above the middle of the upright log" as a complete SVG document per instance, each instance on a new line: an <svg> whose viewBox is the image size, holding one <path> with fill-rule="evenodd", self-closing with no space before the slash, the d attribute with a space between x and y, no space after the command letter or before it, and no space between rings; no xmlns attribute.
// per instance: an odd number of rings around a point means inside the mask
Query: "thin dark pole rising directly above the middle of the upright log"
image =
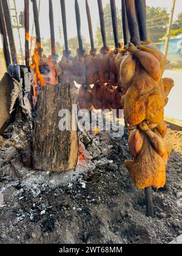
<svg viewBox="0 0 182 256"><path fill-rule="evenodd" d="M55 44L55 26L54 26L52 0L49 0L49 21L50 21L50 40L51 40L52 55L55 56L56 44Z"/></svg>

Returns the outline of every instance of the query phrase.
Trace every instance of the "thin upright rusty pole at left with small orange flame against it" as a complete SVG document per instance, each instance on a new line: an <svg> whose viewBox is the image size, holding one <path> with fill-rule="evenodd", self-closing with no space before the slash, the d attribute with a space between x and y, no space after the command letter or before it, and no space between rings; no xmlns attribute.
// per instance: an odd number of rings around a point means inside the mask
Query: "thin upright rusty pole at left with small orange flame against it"
<svg viewBox="0 0 182 256"><path fill-rule="evenodd" d="M25 65L29 66L30 52L29 52L29 0L24 0L25 6Z"/></svg>

